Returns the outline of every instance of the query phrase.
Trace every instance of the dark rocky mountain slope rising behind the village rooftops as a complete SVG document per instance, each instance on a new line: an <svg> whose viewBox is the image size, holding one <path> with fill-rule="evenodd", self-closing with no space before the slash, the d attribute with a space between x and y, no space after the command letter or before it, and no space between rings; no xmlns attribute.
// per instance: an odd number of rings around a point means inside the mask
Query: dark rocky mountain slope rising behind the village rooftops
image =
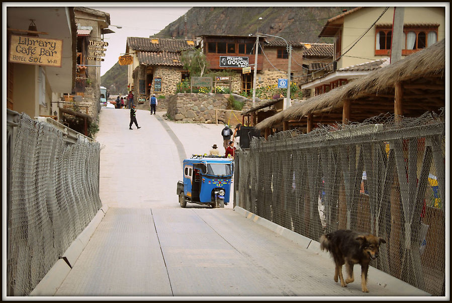
<svg viewBox="0 0 452 303"><path fill-rule="evenodd" d="M194 7L167 25L155 38L195 39L203 35L247 36L257 32L307 43L319 38L326 21L350 7ZM259 18L262 18L259 20ZM267 40L278 38L268 37ZM279 40L279 39L278 39ZM127 94L127 65L116 63L101 77L111 94Z"/></svg>

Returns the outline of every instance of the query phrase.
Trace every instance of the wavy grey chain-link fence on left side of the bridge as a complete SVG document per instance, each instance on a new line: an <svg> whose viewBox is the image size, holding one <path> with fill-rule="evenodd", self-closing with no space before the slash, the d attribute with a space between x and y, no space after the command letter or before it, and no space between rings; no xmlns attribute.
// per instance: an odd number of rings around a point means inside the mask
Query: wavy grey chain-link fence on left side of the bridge
<svg viewBox="0 0 452 303"><path fill-rule="evenodd" d="M7 293L27 295L102 207L100 145L26 114L8 124ZM10 121L9 121L10 122Z"/></svg>

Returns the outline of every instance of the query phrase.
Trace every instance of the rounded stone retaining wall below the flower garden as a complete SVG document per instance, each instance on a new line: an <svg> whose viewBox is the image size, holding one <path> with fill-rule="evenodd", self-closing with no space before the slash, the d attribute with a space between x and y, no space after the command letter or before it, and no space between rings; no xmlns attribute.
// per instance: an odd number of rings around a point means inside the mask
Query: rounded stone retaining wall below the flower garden
<svg viewBox="0 0 452 303"><path fill-rule="evenodd" d="M228 93L176 93L166 98L166 115L175 121L215 123L215 109L226 110L229 95ZM235 93L232 95L236 100L244 102L243 110L250 108L251 100ZM225 112L218 111L217 114L219 121L225 121Z"/></svg>

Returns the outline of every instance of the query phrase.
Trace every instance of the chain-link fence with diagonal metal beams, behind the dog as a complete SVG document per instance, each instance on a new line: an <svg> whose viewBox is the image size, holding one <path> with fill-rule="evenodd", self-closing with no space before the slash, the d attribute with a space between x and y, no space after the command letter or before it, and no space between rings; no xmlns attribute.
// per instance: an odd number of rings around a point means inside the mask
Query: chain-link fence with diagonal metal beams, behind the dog
<svg viewBox="0 0 452 303"><path fill-rule="evenodd" d="M337 229L383 237L372 266L444 295L444 164L444 109L286 131L237 151L234 201L316 241Z"/></svg>

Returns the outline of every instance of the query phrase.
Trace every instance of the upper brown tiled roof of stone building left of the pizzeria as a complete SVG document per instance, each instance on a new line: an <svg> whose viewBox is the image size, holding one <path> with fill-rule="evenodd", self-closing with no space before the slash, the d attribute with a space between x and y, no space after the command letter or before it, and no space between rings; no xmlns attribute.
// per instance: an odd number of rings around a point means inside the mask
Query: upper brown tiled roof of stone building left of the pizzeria
<svg viewBox="0 0 452 303"><path fill-rule="evenodd" d="M156 43L152 43L155 41ZM165 39L165 38L142 38L127 37L127 45L130 49L145 52L179 52L184 49L193 48L188 41L183 39Z"/></svg>

